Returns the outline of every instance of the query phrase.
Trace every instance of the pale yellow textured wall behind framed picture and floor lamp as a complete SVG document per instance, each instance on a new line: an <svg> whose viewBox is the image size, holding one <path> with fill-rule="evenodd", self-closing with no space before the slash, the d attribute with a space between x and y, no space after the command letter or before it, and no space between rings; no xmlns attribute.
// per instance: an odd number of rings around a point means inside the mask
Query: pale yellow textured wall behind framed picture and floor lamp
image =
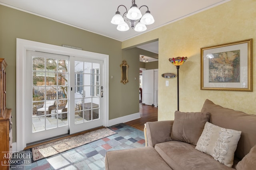
<svg viewBox="0 0 256 170"><path fill-rule="evenodd" d="M188 57L180 66L180 111L200 111L206 99L235 110L256 114L256 78L253 92L200 90L200 48L252 38L252 75L256 75L256 0L232 0L188 18L170 23L122 43L129 45L159 39L158 120L174 119L177 109L177 79L170 79L169 86L160 75L176 73L168 59Z"/></svg>

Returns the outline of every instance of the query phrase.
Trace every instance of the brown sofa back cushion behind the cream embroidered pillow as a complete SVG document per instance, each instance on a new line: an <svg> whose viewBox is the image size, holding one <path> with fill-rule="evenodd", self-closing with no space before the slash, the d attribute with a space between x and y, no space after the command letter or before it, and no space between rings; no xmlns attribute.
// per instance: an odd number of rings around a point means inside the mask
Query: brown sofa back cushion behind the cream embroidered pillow
<svg viewBox="0 0 256 170"><path fill-rule="evenodd" d="M256 115L248 115L242 111L228 109L206 99L202 112L209 112L210 123L226 128L242 131L235 156L240 160L256 145Z"/></svg>

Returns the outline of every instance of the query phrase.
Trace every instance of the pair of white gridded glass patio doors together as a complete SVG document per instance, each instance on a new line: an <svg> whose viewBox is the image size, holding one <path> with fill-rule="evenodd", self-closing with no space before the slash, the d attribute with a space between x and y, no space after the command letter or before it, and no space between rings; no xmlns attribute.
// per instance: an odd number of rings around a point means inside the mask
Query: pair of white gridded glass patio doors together
<svg viewBox="0 0 256 170"><path fill-rule="evenodd" d="M103 61L26 54L27 144L103 125Z"/></svg>

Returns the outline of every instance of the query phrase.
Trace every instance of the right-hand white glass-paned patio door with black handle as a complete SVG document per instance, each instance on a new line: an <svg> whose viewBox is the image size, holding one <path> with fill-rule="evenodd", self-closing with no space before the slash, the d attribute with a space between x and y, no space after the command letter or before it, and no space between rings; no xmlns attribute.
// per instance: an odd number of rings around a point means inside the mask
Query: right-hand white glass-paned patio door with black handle
<svg viewBox="0 0 256 170"><path fill-rule="evenodd" d="M103 61L70 57L70 134L103 125Z"/></svg>

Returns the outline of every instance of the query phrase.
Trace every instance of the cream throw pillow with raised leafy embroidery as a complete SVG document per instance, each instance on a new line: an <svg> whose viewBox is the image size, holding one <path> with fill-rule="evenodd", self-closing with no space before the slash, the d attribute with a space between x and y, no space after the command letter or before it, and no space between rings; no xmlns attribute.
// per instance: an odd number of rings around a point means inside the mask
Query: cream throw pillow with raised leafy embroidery
<svg viewBox="0 0 256 170"><path fill-rule="evenodd" d="M215 160L231 168L240 135L241 131L225 129L206 122L196 149L211 155Z"/></svg>

